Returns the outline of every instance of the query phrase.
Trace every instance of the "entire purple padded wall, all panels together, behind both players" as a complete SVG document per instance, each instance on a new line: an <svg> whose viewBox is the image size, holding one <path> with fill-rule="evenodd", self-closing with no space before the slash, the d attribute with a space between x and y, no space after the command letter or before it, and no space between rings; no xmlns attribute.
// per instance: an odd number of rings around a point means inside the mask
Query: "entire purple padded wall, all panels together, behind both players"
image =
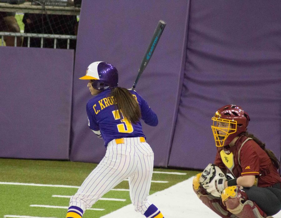
<svg viewBox="0 0 281 218"><path fill-rule="evenodd" d="M143 125L155 166L213 162L211 117L229 103L280 157L280 11L279 0L83 1L71 121L73 50L0 47L0 157L99 162L105 148L87 127L91 95L78 78L103 60L131 88L160 19L167 26L136 87L159 117Z"/></svg>

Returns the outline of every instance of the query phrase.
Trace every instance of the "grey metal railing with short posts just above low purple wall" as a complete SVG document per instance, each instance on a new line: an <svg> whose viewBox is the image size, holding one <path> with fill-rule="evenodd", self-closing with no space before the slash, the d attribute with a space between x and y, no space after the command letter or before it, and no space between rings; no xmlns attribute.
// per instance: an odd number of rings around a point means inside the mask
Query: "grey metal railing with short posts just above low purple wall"
<svg viewBox="0 0 281 218"><path fill-rule="evenodd" d="M27 47L30 47L30 38L41 38L41 48L43 48L43 39L54 39L54 49L57 48L57 39L67 39L67 49L69 49L70 40L76 40L77 36L72 35L57 35L57 34L42 34L42 33L15 33L15 32L0 32L2 46L4 45L4 36L15 37L15 47L17 46L17 37L28 37Z"/></svg>

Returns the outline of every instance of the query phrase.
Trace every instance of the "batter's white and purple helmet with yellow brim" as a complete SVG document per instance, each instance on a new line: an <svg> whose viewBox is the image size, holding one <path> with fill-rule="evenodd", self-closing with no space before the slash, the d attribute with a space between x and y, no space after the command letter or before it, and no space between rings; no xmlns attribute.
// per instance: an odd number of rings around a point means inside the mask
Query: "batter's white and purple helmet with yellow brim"
<svg viewBox="0 0 281 218"><path fill-rule="evenodd" d="M96 61L88 66L86 75L79 79L92 79L93 88L106 90L118 86L118 71L112 64Z"/></svg>

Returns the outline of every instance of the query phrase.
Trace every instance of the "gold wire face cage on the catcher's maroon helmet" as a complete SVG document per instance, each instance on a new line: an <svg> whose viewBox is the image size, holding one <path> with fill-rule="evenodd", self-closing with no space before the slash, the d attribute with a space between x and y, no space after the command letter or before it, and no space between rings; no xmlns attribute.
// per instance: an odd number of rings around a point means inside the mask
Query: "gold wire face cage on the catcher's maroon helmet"
<svg viewBox="0 0 281 218"><path fill-rule="evenodd" d="M226 119L220 119L218 117L212 117L213 125L212 130L213 130L213 135L214 135L214 140L216 142L217 147L223 147L224 142L226 138L230 135L236 132L237 130L237 121L234 120L226 120ZM219 122L225 123L225 127L219 127ZM220 131L221 133L219 134ZM222 135L224 133L225 135Z"/></svg>

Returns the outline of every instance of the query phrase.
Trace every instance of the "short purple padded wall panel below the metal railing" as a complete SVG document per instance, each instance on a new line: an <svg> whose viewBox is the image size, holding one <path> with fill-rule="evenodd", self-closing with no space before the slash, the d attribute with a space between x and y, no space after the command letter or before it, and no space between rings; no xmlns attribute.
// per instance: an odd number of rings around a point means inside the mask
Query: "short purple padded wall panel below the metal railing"
<svg viewBox="0 0 281 218"><path fill-rule="evenodd" d="M0 157L68 159L73 50L0 47Z"/></svg>

